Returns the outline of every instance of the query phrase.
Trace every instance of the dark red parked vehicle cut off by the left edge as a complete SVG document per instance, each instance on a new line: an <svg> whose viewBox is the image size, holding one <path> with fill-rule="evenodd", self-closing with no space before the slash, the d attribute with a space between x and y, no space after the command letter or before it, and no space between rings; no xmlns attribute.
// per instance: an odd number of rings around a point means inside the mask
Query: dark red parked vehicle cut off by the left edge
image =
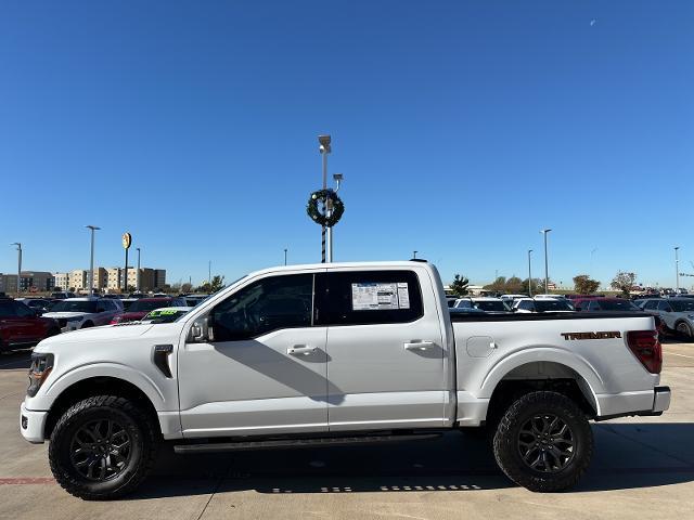
<svg viewBox="0 0 694 520"><path fill-rule="evenodd" d="M55 320L38 316L21 301L0 298L0 352L31 347L60 333Z"/></svg>

